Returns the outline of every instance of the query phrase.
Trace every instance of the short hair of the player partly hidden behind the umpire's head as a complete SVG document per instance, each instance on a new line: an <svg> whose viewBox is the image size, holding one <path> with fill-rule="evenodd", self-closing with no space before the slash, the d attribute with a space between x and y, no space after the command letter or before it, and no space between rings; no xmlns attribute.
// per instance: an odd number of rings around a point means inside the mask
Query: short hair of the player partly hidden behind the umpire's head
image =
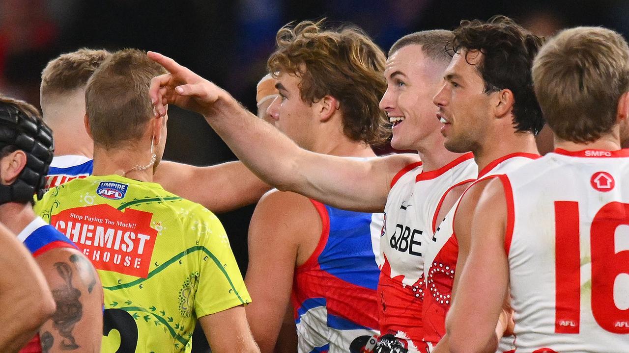
<svg viewBox="0 0 629 353"><path fill-rule="evenodd" d="M42 71L42 100L53 94L65 94L85 87L92 73L111 57L107 50L82 48L50 60Z"/></svg>

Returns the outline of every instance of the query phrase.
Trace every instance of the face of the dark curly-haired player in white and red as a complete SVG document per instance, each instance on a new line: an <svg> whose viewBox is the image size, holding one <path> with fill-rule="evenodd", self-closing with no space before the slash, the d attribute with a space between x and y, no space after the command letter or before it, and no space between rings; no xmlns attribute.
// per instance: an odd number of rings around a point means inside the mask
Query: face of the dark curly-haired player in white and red
<svg viewBox="0 0 629 353"><path fill-rule="evenodd" d="M476 68L482 54L469 52L466 57L466 53L462 50L454 55L445 70L443 87L433 100L442 122L445 148L456 153L474 152L482 146L491 124L491 97L495 94L484 92L485 82Z"/></svg>

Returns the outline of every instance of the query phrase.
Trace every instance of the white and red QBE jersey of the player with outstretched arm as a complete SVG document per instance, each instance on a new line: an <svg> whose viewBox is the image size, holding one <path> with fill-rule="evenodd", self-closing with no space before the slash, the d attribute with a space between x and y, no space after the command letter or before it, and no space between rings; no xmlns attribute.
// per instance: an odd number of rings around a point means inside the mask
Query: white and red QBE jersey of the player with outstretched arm
<svg viewBox="0 0 629 353"><path fill-rule="evenodd" d="M476 175L476 163L467 153L433 171L411 164L392 180L380 238L384 264L378 285L379 347L425 352L421 324L425 242L432 237L445 195Z"/></svg>

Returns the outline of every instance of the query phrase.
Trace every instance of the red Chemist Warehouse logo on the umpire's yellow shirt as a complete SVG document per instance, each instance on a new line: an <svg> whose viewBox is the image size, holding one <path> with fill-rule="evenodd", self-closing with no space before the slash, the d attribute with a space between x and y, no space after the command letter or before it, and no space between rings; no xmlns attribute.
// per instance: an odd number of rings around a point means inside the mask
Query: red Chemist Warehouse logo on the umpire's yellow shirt
<svg viewBox="0 0 629 353"><path fill-rule="evenodd" d="M126 185L125 185L126 186ZM157 231L153 214L110 205L68 209L50 219L97 269L147 278Z"/></svg>

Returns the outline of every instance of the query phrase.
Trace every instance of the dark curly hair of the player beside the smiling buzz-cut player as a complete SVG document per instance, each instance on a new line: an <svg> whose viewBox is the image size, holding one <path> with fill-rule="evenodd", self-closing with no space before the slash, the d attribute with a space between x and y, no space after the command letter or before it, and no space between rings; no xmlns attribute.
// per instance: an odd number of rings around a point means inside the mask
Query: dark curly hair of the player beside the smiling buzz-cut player
<svg viewBox="0 0 629 353"><path fill-rule="evenodd" d="M465 55L470 51L481 52L483 58L476 68L485 82L485 92L511 90L515 98L513 124L516 131L537 134L544 126L544 119L533 92L531 68L543 41L513 19L498 15L487 22L461 21L448 50L452 55L462 50Z"/></svg>

